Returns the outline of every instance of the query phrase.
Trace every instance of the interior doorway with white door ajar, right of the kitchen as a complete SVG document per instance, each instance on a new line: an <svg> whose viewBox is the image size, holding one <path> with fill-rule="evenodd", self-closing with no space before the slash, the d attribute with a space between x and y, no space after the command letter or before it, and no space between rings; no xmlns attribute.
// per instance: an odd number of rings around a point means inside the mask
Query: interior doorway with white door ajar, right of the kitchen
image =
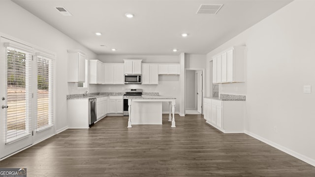
<svg viewBox="0 0 315 177"><path fill-rule="evenodd" d="M202 114L204 69L186 69L185 114Z"/></svg>

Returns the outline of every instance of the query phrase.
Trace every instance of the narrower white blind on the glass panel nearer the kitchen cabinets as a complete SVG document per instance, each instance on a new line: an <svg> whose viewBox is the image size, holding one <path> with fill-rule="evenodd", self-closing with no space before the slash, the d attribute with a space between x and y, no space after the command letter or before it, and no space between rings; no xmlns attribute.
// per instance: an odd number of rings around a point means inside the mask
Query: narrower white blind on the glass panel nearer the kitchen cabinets
<svg viewBox="0 0 315 177"><path fill-rule="evenodd" d="M54 125L54 60L37 56L37 131Z"/></svg>

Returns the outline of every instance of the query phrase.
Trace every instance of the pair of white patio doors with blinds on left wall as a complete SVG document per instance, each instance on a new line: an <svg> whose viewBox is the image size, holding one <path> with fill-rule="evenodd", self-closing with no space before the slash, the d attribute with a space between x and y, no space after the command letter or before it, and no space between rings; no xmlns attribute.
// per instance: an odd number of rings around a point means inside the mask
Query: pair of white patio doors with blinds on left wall
<svg viewBox="0 0 315 177"><path fill-rule="evenodd" d="M0 158L55 134L55 55L0 38Z"/></svg>

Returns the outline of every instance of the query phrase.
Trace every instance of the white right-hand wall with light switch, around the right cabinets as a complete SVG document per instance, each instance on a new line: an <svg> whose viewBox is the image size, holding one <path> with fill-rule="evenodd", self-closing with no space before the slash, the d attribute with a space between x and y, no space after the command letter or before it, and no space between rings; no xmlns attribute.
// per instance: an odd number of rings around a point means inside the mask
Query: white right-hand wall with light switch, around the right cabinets
<svg viewBox="0 0 315 177"><path fill-rule="evenodd" d="M207 55L247 46L247 81L221 84L246 94L246 131L315 165L315 1L296 0ZM207 87L210 83L207 83ZM209 90L209 89L207 89ZM209 95L209 93L207 93Z"/></svg>

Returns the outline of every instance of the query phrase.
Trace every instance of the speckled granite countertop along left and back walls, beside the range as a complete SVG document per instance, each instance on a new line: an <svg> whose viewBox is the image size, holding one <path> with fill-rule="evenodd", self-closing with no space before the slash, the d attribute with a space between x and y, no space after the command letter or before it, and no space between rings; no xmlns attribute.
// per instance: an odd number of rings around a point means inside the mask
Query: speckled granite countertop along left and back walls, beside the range
<svg viewBox="0 0 315 177"><path fill-rule="evenodd" d="M67 95L67 99L89 99L97 98L102 96L123 96L125 92L99 92L99 93L89 93L88 96L83 94L70 94ZM143 92L144 96L158 96L158 92Z"/></svg>

